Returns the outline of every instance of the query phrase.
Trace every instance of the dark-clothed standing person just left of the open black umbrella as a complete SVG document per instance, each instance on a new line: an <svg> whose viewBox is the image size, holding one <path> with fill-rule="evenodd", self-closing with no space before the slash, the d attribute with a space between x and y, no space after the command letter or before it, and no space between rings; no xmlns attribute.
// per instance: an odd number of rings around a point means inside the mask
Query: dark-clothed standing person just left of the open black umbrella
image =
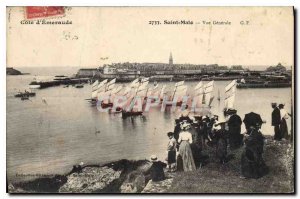
<svg viewBox="0 0 300 199"><path fill-rule="evenodd" d="M229 109L228 111L228 135L229 135L229 146L231 149L237 149L242 146L243 138L241 134L242 119L237 115L237 110Z"/></svg>

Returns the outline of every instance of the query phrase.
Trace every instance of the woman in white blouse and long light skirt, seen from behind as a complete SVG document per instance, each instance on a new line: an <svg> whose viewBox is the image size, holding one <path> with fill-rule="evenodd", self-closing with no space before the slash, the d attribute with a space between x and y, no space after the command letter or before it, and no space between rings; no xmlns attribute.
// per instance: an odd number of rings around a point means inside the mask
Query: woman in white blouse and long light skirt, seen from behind
<svg viewBox="0 0 300 199"><path fill-rule="evenodd" d="M184 171L194 171L196 170L192 150L190 144L193 143L192 134L188 132L190 124L182 124L182 132L179 134L178 143L179 154L182 157L183 161L183 170Z"/></svg>

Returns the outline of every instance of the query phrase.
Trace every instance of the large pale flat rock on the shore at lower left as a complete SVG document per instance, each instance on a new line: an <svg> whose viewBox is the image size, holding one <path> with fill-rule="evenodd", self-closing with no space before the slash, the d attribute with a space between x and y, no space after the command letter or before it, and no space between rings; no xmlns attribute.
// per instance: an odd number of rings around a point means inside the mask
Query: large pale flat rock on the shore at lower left
<svg viewBox="0 0 300 199"><path fill-rule="evenodd" d="M60 189L60 193L92 193L106 188L118 179L122 171L105 167L85 167L80 173L72 173Z"/></svg>

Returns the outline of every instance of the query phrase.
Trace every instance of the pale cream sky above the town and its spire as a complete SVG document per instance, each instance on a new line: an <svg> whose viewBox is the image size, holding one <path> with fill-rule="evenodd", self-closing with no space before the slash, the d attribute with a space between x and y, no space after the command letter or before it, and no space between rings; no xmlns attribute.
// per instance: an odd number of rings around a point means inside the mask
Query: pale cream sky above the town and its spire
<svg viewBox="0 0 300 199"><path fill-rule="evenodd" d="M73 7L48 19L72 25L21 24L24 7L8 7L6 15L8 67L167 63L170 52L175 64L294 63L292 7ZM165 25L164 20L194 24Z"/></svg>

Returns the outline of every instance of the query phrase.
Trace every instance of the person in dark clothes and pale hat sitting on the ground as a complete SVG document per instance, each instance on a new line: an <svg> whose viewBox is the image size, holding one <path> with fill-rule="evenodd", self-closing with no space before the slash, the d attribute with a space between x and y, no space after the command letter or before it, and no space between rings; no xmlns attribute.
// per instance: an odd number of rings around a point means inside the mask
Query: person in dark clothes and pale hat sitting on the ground
<svg viewBox="0 0 300 199"><path fill-rule="evenodd" d="M152 155L150 157L150 161L152 162L152 165L145 174L146 175L150 174L150 178L153 182L164 180L165 179L164 168L167 166L167 164L159 161L156 155Z"/></svg>

